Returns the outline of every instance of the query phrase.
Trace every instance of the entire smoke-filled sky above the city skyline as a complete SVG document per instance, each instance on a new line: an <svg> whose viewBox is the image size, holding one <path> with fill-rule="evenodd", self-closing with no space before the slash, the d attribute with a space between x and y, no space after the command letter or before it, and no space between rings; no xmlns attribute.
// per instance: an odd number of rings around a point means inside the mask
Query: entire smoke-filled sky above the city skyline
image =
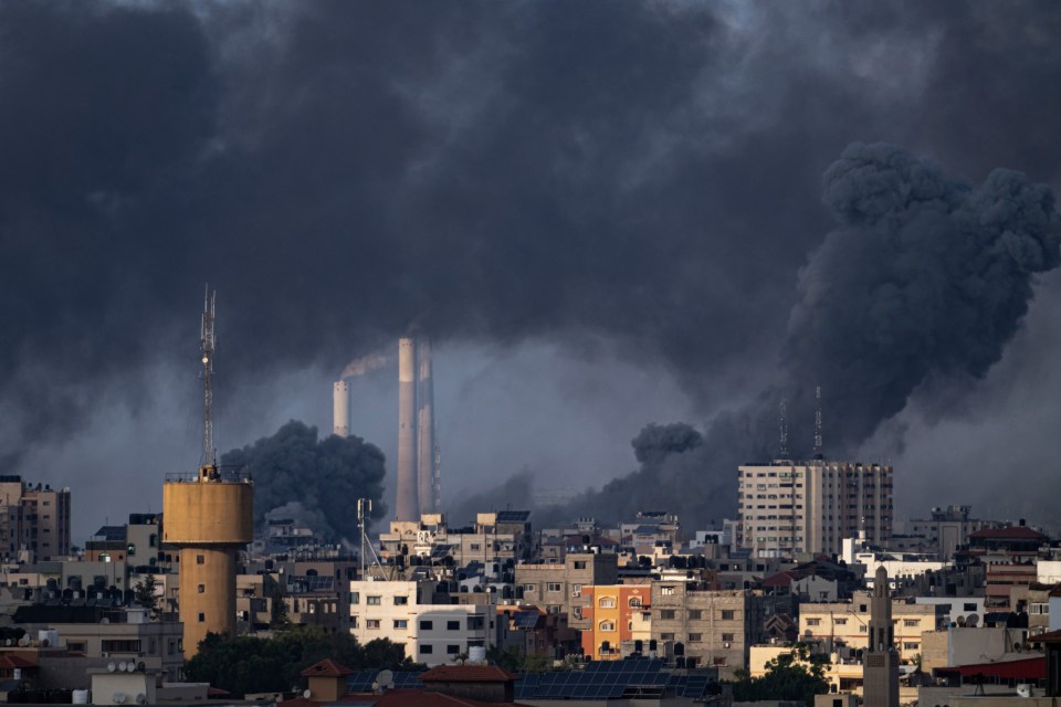
<svg viewBox="0 0 1061 707"><path fill-rule="evenodd" d="M674 422L725 498L821 383L900 517L1042 517L1058 36L1046 1L0 3L0 471L70 486L75 538L157 509L210 282L221 452L326 432L417 326L453 502L643 474ZM353 383L388 477L393 373Z"/></svg>

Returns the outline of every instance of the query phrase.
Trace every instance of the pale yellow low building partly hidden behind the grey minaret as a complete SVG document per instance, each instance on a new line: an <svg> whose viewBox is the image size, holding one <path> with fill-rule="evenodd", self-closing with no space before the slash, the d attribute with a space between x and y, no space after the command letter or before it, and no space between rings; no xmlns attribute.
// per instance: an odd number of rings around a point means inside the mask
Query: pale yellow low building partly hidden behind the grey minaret
<svg viewBox="0 0 1061 707"><path fill-rule="evenodd" d="M803 641L822 642L829 648L863 648L869 642L870 594L855 592L850 602L803 603L799 606L799 635ZM943 627L950 606L944 603L908 603L892 600L895 650L903 662L922 651L922 634Z"/></svg>

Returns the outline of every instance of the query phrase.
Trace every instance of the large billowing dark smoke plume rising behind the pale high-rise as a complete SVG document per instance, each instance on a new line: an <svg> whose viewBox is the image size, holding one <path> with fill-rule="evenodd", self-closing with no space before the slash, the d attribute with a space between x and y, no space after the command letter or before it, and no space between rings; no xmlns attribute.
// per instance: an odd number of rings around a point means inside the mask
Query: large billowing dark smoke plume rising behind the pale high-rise
<svg viewBox="0 0 1061 707"><path fill-rule="evenodd" d="M1027 314L1036 274L1061 263L1053 194L1019 172L974 186L895 146L853 144L826 171L823 201L840 226L800 272L784 381L722 416L706 443L687 425L649 425L633 441L641 469L571 510L614 518L663 504L694 524L732 513L737 464L777 454L778 402L809 408L815 383L828 391L827 450L853 452L918 387L983 377ZM812 436L795 429L789 449L806 456Z"/></svg>

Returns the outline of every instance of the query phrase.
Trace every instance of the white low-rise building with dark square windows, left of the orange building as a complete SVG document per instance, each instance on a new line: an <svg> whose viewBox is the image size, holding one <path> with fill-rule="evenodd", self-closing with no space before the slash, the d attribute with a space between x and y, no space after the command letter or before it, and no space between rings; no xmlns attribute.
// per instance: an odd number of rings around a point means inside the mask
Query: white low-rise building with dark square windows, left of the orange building
<svg viewBox="0 0 1061 707"><path fill-rule="evenodd" d="M400 643L407 656L428 666L452 663L472 646L491 647L496 604L432 603L435 587L430 580L351 581L350 633L361 644Z"/></svg>

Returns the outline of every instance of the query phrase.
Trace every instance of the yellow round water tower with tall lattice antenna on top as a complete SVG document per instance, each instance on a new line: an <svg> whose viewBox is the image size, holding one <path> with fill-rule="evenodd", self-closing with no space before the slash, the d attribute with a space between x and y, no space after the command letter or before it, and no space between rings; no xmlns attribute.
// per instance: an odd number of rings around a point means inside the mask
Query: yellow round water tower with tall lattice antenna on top
<svg viewBox="0 0 1061 707"><path fill-rule="evenodd" d="M202 313L203 435L198 474L170 474L162 485L164 542L180 550L178 604L185 655L198 653L207 633L235 635L235 566L254 539L250 475L222 472L213 446L213 323L216 296Z"/></svg>

